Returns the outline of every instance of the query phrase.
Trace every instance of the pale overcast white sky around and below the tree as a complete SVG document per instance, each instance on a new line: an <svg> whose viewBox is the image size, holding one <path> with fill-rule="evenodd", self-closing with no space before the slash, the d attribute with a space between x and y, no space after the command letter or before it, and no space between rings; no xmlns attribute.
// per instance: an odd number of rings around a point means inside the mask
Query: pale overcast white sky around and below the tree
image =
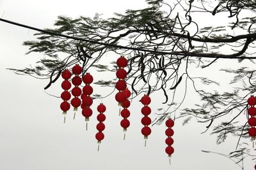
<svg viewBox="0 0 256 170"><path fill-rule="evenodd" d="M51 27L58 15L93 17L95 13L103 13L111 17L114 12L122 13L126 9L145 7L143 0L131 1L14 1L0 0L0 17L33 27ZM84 118L77 114L72 120L73 111L68 111L67 123L63 124L60 110L61 99L48 96L44 92L47 80L36 80L29 76L18 76L6 67L22 68L35 64L42 55L33 53L25 55L28 48L22 46L23 41L35 39L35 31L0 22L0 170L15 169L196 169L220 170L239 169L234 162L214 153L203 153L201 150L211 150L229 153L236 147L236 138L227 139L226 143L216 145L215 136L209 133L200 134L205 130L205 124L182 126L181 121L175 122L173 136L175 153L172 166L164 152L166 138L164 125L152 127L147 147L140 134L141 104L139 98L131 106L131 127L124 132L119 125L118 106L115 106L114 96L104 100L106 111L106 138L97 152L95 126L97 111L85 131ZM102 74L94 75L100 79ZM60 95L61 80L47 92ZM110 92L111 89L100 89L100 92ZM157 95L152 103L152 113L157 111L161 97ZM191 100L194 100L191 98ZM113 102L114 101L114 102ZM94 101L96 108L100 101ZM115 104L113 104L115 103ZM81 110L80 110L81 111ZM94 120L93 120L94 119ZM252 169L250 158L244 161L244 169Z"/></svg>

